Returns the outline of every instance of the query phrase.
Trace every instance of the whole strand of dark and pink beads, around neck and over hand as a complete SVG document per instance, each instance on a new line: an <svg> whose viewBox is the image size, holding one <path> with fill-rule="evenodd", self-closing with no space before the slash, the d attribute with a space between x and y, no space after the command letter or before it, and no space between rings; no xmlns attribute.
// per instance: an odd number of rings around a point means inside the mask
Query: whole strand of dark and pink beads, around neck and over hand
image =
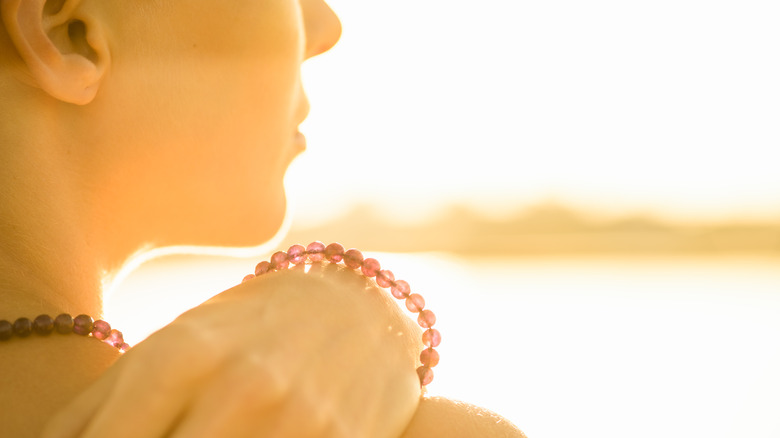
<svg viewBox="0 0 780 438"><path fill-rule="evenodd" d="M379 262L373 258L363 258L363 254L350 249L345 251L338 243L325 246L322 242L312 242L307 247L301 245L291 246L287 252L279 251L271 256L270 261L263 261L255 267L255 273L244 277L243 281L251 280L272 271L281 271L293 265L306 262L343 262L344 266L353 270L359 270L363 275L374 278L377 285L389 288L390 293L399 300L405 300L406 308L417 314L417 323L426 329L422 335L425 345L420 353L421 365L417 368L417 376L420 386L426 386L433 381L433 370L439 363L439 353L434 349L441 343L441 333L433 328L436 323L436 315L425 308L425 300L419 294L411 293L409 283L404 280L396 280L389 270L381 269ZM67 313L52 318L49 315L39 315L34 319L19 318L13 323L0 320L0 342L11 338L28 338L35 336L49 336L52 333L69 334L92 337L105 342L120 352L130 349L122 336L122 332L112 329L111 325L103 320L93 321L89 315L78 315L75 318Z"/></svg>

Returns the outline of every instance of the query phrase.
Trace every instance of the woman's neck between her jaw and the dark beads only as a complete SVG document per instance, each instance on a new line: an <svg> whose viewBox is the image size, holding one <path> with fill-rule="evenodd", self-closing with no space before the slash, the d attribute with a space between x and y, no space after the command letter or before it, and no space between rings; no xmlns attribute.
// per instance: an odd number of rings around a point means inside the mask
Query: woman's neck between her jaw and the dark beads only
<svg viewBox="0 0 780 438"><path fill-rule="evenodd" d="M99 317L107 245L90 234L85 200L59 151L43 147L45 138L22 138L24 145L0 148L0 319Z"/></svg>

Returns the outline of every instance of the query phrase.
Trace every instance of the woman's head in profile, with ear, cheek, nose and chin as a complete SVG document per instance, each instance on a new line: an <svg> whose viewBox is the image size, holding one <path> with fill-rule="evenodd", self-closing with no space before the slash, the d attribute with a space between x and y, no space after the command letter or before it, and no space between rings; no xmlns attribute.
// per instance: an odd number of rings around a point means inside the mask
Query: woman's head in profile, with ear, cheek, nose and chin
<svg viewBox="0 0 780 438"><path fill-rule="evenodd" d="M98 240L245 246L278 230L300 65L340 35L322 0L0 5L0 155L27 157L7 175L48 180Z"/></svg>

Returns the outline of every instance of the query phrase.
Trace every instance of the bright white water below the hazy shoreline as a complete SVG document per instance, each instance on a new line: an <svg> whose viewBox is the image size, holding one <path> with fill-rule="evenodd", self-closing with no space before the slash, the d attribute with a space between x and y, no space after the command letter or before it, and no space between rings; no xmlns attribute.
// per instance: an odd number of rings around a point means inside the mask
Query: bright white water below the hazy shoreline
<svg viewBox="0 0 780 438"><path fill-rule="evenodd" d="M437 313L431 393L492 409L529 437L780 436L780 259L377 258ZM128 337L253 264L190 262L128 279L109 315L122 327L148 315ZM175 285L160 280L177 270Z"/></svg>

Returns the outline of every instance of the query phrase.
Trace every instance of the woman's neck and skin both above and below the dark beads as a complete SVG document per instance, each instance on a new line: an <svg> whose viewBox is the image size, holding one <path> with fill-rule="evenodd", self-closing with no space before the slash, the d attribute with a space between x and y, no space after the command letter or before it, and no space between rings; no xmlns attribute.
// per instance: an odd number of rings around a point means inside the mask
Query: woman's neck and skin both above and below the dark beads
<svg viewBox="0 0 780 438"><path fill-rule="evenodd" d="M121 251L108 251L116 246L107 239L121 233L95 232L102 222L89 216L78 185L83 172L69 165L69 150L59 143L72 136L22 113L2 119L0 319L60 313L100 318L104 273L123 261ZM37 336L0 347L0 435L25 438L40 436L52 413L119 354L81 336Z"/></svg>

